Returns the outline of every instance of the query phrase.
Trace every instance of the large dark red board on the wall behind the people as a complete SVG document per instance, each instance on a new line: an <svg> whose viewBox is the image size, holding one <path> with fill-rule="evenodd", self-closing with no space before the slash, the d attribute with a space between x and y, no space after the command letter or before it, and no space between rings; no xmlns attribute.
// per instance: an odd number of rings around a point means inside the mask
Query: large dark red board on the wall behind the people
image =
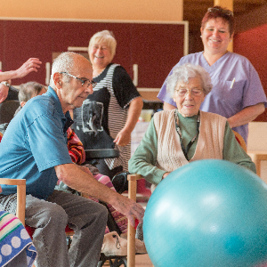
<svg viewBox="0 0 267 267"><path fill-rule="evenodd" d="M44 84L45 62L52 63L53 53L68 51L69 46L87 47L91 36L103 29L111 30L117 39L114 62L125 67L132 78L133 64L138 64L138 87L161 87L184 51L183 24L33 20L0 22L4 30L4 57L0 59L4 70L17 69L29 57L37 57L43 62L37 74L14 80L16 85L29 80Z"/></svg>

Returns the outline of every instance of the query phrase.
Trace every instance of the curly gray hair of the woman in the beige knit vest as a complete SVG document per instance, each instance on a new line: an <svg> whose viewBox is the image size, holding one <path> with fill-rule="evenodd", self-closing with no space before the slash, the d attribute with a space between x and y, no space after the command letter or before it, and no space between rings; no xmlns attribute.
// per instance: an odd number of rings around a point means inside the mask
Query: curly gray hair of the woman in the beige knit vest
<svg viewBox="0 0 267 267"><path fill-rule="evenodd" d="M173 73L166 79L166 90L174 97L175 87L179 82L189 82L189 78L200 77L201 87L204 95L209 93L213 85L209 73L199 65L185 63L181 66L174 67Z"/></svg>

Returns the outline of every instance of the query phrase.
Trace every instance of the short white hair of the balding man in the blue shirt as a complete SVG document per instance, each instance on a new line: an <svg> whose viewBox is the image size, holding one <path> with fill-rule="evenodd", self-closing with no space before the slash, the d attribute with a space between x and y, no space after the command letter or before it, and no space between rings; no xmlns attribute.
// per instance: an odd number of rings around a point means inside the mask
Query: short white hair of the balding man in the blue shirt
<svg viewBox="0 0 267 267"><path fill-rule="evenodd" d="M76 68L74 64L74 58L77 55L78 53L63 52L57 58L54 59L52 70L51 70L50 84L49 84L53 89L54 89L53 75L56 72L59 72L59 73L73 72L74 69ZM65 75L63 79L66 79L66 81L68 82L70 80L70 77Z"/></svg>

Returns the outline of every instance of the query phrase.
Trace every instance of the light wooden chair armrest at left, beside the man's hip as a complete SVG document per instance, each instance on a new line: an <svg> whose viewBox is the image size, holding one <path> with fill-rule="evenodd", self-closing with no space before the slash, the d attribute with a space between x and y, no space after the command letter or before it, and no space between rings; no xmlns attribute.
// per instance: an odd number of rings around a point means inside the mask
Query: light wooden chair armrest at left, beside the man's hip
<svg viewBox="0 0 267 267"><path fill-rule="evenodd" d="M0 184L17 185L17 213L20 222L25 225L25 206L26 206L26 180L0 178Z"/></svg>

